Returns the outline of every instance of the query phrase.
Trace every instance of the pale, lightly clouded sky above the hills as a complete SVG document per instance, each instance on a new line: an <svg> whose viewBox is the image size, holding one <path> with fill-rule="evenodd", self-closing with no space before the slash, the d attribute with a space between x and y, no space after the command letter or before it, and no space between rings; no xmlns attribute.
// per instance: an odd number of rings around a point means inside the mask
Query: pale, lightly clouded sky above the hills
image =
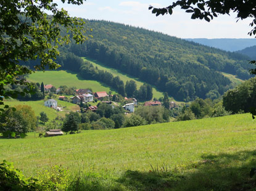
<svg viewBox="0 0 256 191"><path fill-rule="evenodd" d="M191 14L176 8L173 15L156 17L148 10L149 5L166 7L173 1L167 0L86 0L83 5L62 4L72 17L96 20L108 20L131 26L139 26L148 30L159 31L178 38L254 38L247 33L252 30L251 20L238 20L236 14L220 15L209 23L205 20L192 20Z"/></svg>

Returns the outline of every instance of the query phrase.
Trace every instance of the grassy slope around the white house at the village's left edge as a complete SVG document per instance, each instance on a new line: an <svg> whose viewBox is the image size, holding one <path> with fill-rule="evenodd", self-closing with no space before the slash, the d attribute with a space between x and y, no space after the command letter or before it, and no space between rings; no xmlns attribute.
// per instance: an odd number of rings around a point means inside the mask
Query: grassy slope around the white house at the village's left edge
<svg viewBox="0 0 256 191"><path fill-rule="evenodd" d="M69 102L64 102L62 100L57 100L58 107L65 107L64 111L57 112L56 110L45 107L44 100L39 101L28 101L28 102L20 102L19 100L6 100L4 104L13 107L15 105L30 105L31 108L35 111L35 115L39 116L39 113L45 112L49 118L49 120L55 119L58 115L64 117L66 113L69 111L75 112L76 110L80 110L80 107L76 104L72 104Z"/></svg>

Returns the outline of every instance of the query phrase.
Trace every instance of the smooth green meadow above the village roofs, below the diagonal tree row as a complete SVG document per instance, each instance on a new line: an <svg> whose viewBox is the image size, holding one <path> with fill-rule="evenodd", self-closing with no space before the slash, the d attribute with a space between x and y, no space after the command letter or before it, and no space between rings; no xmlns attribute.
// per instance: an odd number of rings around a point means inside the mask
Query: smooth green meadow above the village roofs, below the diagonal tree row
<svg viewBox="0 0 256 191"><path fill-rule="evenodd" d="M93 89L94 92L96 91L112 91L115 92L113 89L110 89L109 86L99 83L94 80L85 80L80 78L76 73L72 71L36 71L35 73L29 75L27 79L31 82L40 83L43 81L44 84L52 84L56 88L59 86L68 86L76 88L88 88L90 87Z"/></svg>

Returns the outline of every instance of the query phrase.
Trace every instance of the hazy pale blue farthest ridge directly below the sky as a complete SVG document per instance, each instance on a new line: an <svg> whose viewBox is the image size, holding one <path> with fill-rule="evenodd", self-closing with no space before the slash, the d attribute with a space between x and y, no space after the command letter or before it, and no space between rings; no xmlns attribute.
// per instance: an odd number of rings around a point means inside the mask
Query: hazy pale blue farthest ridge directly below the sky
<svg viewBox="0 0 256 191"><path fill-rule="evenodd" d="M230 52L240 51L246 47L256 45L255 38L186 38L186 40Z"/></svg>

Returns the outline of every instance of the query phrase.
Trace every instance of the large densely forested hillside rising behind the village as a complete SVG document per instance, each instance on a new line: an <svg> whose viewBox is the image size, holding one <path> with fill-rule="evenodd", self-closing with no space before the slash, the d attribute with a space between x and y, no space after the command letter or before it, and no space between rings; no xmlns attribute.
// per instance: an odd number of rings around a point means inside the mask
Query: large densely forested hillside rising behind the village
<svg viewBox="0 0 256 191"><path fill-rule="evenodd" d="M242 79L250 77L247 69L252 66L247 64L246 55L119 23L97 20L86 20L86 23L93 29L93 39L85 44L69 45L68 51L122 70L177 100L223 94L231 87L231 81L220 71ZM67 64L64 68L75 69ZM89 66L82 69L88 78L97 72Z"/></svg>

